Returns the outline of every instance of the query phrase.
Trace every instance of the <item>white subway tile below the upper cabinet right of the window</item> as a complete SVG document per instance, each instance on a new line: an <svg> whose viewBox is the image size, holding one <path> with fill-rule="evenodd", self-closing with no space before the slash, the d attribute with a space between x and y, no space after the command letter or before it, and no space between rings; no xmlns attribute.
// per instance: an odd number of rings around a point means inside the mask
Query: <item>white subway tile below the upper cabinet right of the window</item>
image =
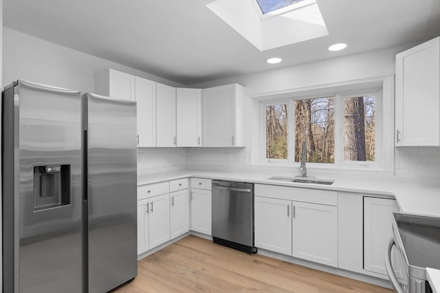
<svg viewBox="0 0 440 293"><path fill-rule="evenodd" d="M440 148L395 148L395 175L440 178Z"/></svg>

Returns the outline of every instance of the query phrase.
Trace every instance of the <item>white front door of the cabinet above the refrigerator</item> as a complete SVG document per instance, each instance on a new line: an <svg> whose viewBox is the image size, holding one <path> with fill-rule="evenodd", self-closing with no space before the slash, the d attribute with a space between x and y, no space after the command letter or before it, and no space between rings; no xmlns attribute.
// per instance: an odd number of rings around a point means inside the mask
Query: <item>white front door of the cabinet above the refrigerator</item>
<svg viewBox="0 0 440 293"><path fill-rule="evenodd" d="M109 69L109 96L118 99L135 100L135 77Z"/></svg>

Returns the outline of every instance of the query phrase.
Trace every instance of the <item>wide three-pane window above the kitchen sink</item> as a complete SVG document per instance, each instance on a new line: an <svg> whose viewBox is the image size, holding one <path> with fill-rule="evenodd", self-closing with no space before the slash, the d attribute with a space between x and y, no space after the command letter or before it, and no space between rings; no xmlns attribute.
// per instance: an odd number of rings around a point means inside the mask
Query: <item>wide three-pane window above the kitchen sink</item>
<svg viewBox="0 0 440 293"><path fill-rule="evenodd" d="M380 95L338 93L264 104L265 161L298 163L305 142L307 163L377 167Z"/></svg>

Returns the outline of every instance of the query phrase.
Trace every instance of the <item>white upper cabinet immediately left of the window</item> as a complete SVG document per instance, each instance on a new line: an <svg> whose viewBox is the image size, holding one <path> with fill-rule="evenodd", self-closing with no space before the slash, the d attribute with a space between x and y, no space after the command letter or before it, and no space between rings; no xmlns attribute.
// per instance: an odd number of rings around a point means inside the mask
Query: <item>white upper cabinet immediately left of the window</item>
<svg viewBox="0 0 440 293"><path fill-rule="evenodd" d="M203 146L244 146L245 88L239 84L202 91Z"/></svg>

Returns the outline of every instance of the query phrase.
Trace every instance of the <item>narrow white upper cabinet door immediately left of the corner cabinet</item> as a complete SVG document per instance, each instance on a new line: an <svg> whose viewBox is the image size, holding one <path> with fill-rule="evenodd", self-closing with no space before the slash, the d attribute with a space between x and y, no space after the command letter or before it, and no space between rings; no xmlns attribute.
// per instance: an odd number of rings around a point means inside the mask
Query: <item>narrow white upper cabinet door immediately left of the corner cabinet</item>
<svg viewBox="0 0 440 293"><path fill-rule="evenodd" d="M176 89L156 84L156 145L176 146Z"/></svg>

